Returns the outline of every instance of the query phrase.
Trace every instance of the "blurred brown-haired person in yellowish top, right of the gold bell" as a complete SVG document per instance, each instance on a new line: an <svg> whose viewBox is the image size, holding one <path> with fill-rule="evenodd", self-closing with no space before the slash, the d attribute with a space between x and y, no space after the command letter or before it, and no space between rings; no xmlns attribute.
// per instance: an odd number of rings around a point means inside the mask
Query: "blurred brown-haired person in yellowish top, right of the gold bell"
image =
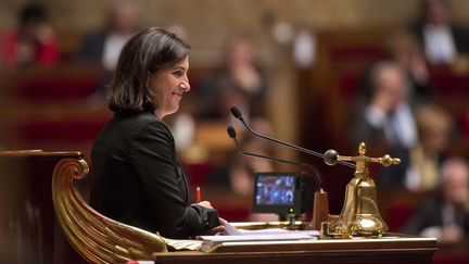
<svg viewBox="0 0 469 264"><path fill-rule="evenodd" d="M451 116L435 104L416 110L419 142L410 150L405 187L414 191L433 190L440 184L440 165L449 146Z"/></svg>

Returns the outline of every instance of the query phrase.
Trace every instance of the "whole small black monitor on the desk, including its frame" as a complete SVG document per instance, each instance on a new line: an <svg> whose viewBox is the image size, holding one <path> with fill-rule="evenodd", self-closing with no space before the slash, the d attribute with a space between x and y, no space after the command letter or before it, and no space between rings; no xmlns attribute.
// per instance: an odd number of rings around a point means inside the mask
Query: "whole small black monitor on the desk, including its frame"
<svg viewBox="0 0 469 264"><path fill-rule="evenodd" d="M254 213L300 214L301 174L256 173L254 175Z"/></svg>

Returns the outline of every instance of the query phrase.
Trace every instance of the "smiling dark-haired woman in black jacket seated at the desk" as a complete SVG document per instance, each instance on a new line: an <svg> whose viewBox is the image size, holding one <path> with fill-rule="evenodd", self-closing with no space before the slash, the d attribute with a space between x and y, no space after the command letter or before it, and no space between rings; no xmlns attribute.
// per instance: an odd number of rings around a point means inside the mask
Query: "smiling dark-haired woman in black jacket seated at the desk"
<svg viewBox="0 0 469 264"><path fill-rule="evenodd" d="M190 90L190 47L162 28L123 48L107 101L115 116L94 141L90 204L100 213L169 238L224 230L207 201L189 204L187 178L162 121Z"/></svg>

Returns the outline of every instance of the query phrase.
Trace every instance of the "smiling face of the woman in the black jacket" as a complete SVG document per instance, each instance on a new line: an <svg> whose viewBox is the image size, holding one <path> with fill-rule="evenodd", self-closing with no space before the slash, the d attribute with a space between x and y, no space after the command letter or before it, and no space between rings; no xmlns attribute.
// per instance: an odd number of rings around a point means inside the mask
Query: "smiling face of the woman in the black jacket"
<svg viewBox="0 0 469 264"><path fill-rule="evenodd" d="M154 93L155 114L163 118L179 109L183 93L190 90L187 72L189 56L169 68L159 70L149 77L150 89Z"/></svg>

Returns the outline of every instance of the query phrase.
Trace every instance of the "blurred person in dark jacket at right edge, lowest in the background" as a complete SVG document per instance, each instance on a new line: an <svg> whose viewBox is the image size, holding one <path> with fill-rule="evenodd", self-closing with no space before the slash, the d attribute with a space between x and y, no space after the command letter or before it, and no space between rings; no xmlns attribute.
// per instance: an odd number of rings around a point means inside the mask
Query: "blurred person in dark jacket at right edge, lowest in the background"
<svg viewBox="0 0 469 264"><path fill-rule="evenodd" d="M436 237L441 242L469 239L469 165L451 158L443 163L441 176L438 194L422 201L403 232Z"/></svg>

